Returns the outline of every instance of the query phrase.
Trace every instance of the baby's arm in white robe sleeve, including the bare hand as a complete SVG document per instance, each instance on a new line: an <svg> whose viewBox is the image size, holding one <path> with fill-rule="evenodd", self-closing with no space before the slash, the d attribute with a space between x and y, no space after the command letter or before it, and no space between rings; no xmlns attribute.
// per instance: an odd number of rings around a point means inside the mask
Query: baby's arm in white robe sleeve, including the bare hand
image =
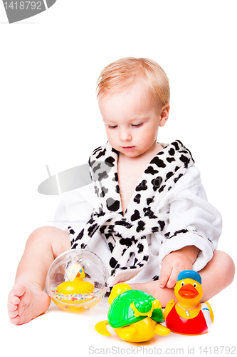
<svg viewBox="0 0 237 357"><path fill-rule="evenodd" d="M159 263L161 285L172 288L181 270L201 271L211 260L221 234L221 215L207 201L194 166L169 195L169 223L159 249Z"/></svg>

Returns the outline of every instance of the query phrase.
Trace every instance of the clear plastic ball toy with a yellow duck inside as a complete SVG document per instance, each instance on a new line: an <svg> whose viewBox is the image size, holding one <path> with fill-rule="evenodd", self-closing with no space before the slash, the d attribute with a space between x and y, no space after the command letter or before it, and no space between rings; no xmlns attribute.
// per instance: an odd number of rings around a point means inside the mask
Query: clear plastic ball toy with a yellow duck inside
<svg viewBox="0 0 237 357"><path fill-rule="evenodd" d="M64 311L83 312L105 296L107 278L107 268L95 253L71 249L53 261L46 278L46 290Z"/></svg>

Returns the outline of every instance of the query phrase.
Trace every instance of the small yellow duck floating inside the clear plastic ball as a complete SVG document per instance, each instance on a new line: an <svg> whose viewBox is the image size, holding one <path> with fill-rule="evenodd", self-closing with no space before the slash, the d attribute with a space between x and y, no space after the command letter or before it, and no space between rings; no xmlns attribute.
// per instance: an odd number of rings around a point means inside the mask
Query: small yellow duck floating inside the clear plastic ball
<svg viewBox="0 0 237 357"><path fill-rule="evenodd" d="M64 281L57 287L57 293L63 295L91 293L94 289L93 283L83 281L85 273L78 263L74 263L68 269L68 278L70 281Z"/></svg>

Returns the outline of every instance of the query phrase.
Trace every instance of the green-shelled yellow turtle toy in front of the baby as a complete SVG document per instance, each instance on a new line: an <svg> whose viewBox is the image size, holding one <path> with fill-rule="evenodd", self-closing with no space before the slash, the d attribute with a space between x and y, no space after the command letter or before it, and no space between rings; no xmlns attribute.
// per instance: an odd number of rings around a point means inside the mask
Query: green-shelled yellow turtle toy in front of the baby
<svg viewBox="0 0 237 357"><path fill-rule="evenodd" d="M107 325L122 340L130 342L148 341L154 335L169 335L169 328L160 324L164 322L162 305L148 293L119 283L112 288L108 302L107 321L95 325L95 330L101 335L111 336Z"/></svg>

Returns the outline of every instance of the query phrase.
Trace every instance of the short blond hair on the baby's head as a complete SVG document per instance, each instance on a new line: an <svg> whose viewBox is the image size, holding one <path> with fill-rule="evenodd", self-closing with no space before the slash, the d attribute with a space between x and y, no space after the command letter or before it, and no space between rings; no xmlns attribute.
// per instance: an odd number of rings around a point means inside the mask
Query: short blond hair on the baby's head
<svg viewBox="0 0 237 357"><path fill-rule="evenodd" d="M162 67L151 59L126 57L109 64L98 79L98 97L121 91L139 83L143 94L151 91L160 106L169 104L169 79Z"/></svg>

